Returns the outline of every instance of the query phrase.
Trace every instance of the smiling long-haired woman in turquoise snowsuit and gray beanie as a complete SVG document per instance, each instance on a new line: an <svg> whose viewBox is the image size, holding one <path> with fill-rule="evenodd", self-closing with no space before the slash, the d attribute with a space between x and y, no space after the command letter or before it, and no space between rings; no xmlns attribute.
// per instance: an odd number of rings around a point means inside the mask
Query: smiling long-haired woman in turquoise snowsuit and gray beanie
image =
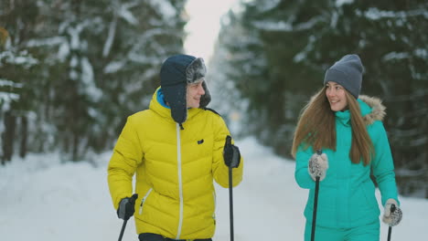
<svg viewBox="0 0 428 241"><path fill-rule="evenodd" d="M359 96L363 66L347 55L326 71L325 87L305 106L294 132L295 180L309 189L305 240L310 240L316 176L320 177L316 241L380 240L378 183L383 222L401 221L394 166L379 99ZM316 151L321 150L321 155ZM391 204L397 209L391 213Z"/></svg>

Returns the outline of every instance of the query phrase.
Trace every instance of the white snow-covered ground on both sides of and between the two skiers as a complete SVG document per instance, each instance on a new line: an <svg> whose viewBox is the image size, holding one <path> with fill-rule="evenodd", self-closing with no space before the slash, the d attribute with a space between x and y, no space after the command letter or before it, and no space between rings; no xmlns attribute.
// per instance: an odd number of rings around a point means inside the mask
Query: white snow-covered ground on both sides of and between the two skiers
<svg viewBox="0 0 428 241"><path fill-rule="evenodd" d="M245 159L244 180L233 189L235 240L303 240L307 190L294 182L294 162L249 138L236 141ZM6 241L117 240L107 186L110 152L93 162L59 161L58 154L30 155L0 167L0 239ZM230 240L229 191L217 186L215 241ZM377 193L379 200L379 192ZM428 200L401 197L403 220L391 240L426 240ZM123 241L138 240L134 218ZM381 225L380 240L388 227Z"/></svg>

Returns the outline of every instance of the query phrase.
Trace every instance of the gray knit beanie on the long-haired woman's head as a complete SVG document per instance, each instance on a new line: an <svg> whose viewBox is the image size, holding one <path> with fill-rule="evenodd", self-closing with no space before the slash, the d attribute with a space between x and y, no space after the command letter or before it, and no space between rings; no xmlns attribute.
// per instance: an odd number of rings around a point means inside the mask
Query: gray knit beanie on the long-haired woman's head
<svg viewBox="0 0 428 241"><path fill-rule="evenodd" d="M358 55L346 55L326 70L324 85L328 81L336 82L358 99L363 71L364 67Z"/></svg>

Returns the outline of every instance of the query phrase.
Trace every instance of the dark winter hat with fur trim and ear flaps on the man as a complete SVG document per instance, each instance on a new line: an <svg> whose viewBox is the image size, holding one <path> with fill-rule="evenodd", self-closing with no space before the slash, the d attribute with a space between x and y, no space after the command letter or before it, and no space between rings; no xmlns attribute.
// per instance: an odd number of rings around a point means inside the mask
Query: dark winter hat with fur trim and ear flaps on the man
<svg viewBox="0 0 428 241"><path fill-rule="evenodd" d="M181 124L187 120L187 84L198 82L206 74L207 68L202 58L188 55L166 58L160 70L161 89L171 108L171 116L177 123ZM205 94L200 98L199 108L205 108L211 100L205 81L202 87Z"/></svg>

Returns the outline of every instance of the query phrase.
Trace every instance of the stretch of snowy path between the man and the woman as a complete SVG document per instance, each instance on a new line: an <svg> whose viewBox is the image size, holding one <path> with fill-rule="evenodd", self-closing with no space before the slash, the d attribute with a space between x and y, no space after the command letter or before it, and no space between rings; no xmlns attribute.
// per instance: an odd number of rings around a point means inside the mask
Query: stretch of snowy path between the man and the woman
<svg viewBox="0 0 428 241"><path fill-rule="evenodd" d="M306 191L294 182L294 162L284 162L252 140L242 144L244 177L233 189L235 239L260 241L303 236ZM217 190L219 225L215 240L230 240L229 190Z"/></svg>

